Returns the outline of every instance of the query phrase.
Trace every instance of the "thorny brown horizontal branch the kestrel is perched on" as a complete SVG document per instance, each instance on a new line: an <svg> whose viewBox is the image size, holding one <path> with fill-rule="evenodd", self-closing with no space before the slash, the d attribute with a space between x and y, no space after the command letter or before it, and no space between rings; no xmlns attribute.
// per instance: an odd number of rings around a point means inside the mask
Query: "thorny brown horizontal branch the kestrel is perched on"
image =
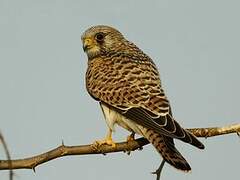
<svg viewBox="0 0 240 180"><path fill-rule="evenodd" d="M240 132L240 124L234 124L231 126L224 127L212 127L212 128L194 128L188 129L197 137L212 137L223 134L230 133L239 133ZM33 157L25 158L25 159L16 159L11 160L11 164L9 160L0 160L0 170L7 169L35 169L40 164L48 162L52 159L56 159L63 156L70 155L86 155L86 154L106 154L113 152L127 152L134 151L136 149L141 149L143 146L149 144L149 142L145 138L139 138L135 141L131 142L121 142L117 143L116 147L102 145L99 149L90 145L80 145L80 146L65 146L64 144L59 147L45 152L40 155L36 155Z"/></svg>

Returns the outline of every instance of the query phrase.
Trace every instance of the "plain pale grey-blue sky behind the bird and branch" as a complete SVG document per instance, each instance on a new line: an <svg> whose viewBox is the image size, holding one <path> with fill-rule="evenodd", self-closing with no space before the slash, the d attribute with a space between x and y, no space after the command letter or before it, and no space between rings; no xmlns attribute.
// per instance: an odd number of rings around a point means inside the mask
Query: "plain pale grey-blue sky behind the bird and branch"
<svg viewBox="0 0 240 180"><path fill-rule="evenodd" d="M186 128L239 123L240 1L0 0L0 131L13 159L105 136L102 112L87 94L81 34L105 24L119 29L156 63L175 118ZM120 128L114 135L125 140ZM239 177L235 134L201 139L204 151L177 141L189 174L166 165L162 179ZM0 159L5 159L0 147ZM155 179L150 145L124 153L72 156L15 180ZM0 171L0 179L8 172Z"/></svg>

